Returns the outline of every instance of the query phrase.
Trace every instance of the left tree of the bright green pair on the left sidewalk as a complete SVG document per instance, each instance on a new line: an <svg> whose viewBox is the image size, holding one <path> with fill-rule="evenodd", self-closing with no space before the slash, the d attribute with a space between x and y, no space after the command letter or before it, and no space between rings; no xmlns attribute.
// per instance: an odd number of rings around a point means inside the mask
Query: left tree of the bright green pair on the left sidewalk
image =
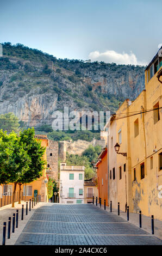
<svg viewBox="0 0 162 256"><path fill-rule="evenodd" d="M29 170L30 157L24 145L14 132L7 135L0 132L0 183L14 182L13 203L16 185Z"/></svg>

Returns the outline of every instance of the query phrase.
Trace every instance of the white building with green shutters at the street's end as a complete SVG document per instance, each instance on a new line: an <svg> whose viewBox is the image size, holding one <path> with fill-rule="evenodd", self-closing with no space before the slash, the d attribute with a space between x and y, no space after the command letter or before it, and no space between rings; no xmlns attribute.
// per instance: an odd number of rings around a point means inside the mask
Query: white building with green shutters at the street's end
<svg viewBox="0 0 162 256"><path fill-rule="evenodd" d="M84 168L60 163L60 203L84 203Z"/></svg>

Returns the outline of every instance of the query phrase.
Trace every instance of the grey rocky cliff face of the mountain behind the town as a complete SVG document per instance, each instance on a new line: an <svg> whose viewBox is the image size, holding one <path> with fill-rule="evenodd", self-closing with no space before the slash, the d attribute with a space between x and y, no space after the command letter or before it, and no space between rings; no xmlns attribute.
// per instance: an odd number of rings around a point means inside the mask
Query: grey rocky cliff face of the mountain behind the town
<svg viewBox="0 0 162 256"><path fill-rule="evenodd" d="M13 47L13 46L12 46ZM144 89L144 67L78 60L34 62L0 58L0 114L13 112L30 125L51 118L55 110L115 112L120 101ZM16 53L15 53L16 55ZM51 57L52 58L52 57ZM48 64L48 65L46 65Z"/></svg>

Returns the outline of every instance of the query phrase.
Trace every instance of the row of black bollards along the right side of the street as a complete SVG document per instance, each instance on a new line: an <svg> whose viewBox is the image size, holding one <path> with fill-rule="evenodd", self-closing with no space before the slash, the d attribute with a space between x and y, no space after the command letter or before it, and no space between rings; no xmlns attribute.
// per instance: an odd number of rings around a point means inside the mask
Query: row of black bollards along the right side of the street
<svg viewBox="0 0 162 256"><path fill-rule="evenodd" d="M94 204L94 196L93 196L93 204ZM101 208L101 198L99 197L99 204ZM96 197L96 206L97 206L97 197ZM106 203L104 199L104 210L106 210ZM110 212L112 212L112 201L110 201ZM120 202L117 203L117 215L120 215ZM127 221L129 221L129 206L127 205ZM142 228L142 212L139 211L139 227ZM154 235L154 216L151 215L151 229L152 235Z"/></svg>

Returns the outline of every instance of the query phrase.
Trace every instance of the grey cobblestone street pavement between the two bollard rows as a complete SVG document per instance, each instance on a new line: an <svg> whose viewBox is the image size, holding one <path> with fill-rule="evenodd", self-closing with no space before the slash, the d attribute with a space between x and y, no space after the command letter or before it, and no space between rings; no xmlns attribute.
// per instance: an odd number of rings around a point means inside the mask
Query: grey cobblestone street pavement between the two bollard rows
<svg viewBox="0 0 162 256"><path fill-rule="evenodd" d="M15 245L162 245L162 241L91 204L46 204L37 209Z"/></svg>

